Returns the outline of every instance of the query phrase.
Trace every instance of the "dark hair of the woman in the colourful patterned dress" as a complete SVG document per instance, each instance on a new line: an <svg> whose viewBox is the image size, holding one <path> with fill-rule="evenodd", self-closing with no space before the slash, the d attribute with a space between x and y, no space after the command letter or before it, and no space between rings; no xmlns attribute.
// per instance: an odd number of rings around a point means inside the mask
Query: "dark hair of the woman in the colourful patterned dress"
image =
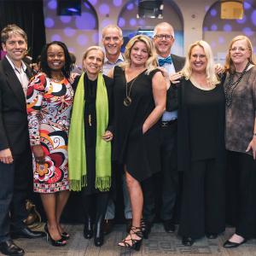
<svg viewBox="0 0 256 256"><path fill-rule="evenodd" d="M57 45L61 46L61 48L64 50L65 65L64 65L64 67L62 67L61 71L62 71L63 75L65 76L65 78L69 79L70 73L72 70L72 61L71 61L70 55L68 53L67 45L60 41L53 41L53 42L50 42L49 44L44 45L44 48L42 49L42 52L41 52L41 70L42 70L42 72L46 73L46 75L50 78L51 70L50 70L50 68L48 66L48 62L47 62L47 50L48 50L49 46L53 45L53 44L57 44Z"/></svg>

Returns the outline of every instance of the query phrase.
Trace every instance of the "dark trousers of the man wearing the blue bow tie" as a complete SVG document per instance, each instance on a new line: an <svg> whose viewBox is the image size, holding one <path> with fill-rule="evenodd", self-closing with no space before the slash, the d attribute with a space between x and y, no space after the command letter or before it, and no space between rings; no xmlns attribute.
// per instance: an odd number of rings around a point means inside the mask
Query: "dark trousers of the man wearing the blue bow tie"
<svg viewBox="0 0 256 256"><path fill-rule="evenodd" d="M155 201L161 201L161 219L171 220L173 218L178 191L177 122L161 127L160 154L160 172L142 183L144 196L143 218L148 222L154 220L156 213Z"/></svg>

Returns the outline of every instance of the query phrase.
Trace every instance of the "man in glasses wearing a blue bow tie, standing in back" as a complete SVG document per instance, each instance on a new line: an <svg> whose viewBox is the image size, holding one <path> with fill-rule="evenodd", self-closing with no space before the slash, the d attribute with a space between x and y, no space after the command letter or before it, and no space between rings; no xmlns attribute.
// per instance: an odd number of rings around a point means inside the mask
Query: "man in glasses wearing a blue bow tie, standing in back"
<svg viewBox="0 0 256 256"><path fill-rule="evenodd" d="M161 22L154 27L154 46L158 54L160 67L164 67L170 75L170 80L174 73L183 68L185 58L171 54L172 44L175 41L174 31L169 23ZM177 76L177 75L176 75ZM171 84L171 82L170 82ZM177 105L170 99L173 97L169 93L170 84L167 88L166 112L161 119L161 170L160 188L161 209L160 218L163 221L166 232L173 233L173 212L177 198L178 173L177 173ZM148 180L143 186L145 189L143 218L145 219L146 236L150 232L151 223L154 220L154 181Z"/></svg>

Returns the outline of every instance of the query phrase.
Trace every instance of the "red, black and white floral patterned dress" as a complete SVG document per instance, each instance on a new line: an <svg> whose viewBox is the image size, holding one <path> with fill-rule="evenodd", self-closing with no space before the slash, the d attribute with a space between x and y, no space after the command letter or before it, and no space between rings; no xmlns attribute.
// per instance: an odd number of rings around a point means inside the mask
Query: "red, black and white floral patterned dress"
<svg viewBox="0 0 256 256"><path fill-rule="evenodd" d="M43 165L33 159L34 192L67 190L67 137L73 88L67 79L55 81L38 73L28 84L26 105L31 146L41 144L45 154Z"/></svg>

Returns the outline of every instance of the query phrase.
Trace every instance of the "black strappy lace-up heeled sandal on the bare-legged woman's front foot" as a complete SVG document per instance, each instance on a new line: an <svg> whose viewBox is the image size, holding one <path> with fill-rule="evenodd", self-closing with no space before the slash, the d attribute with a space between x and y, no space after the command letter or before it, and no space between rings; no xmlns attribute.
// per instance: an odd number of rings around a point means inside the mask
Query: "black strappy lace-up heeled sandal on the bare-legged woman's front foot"
<svg viewBox="0 0 256 256"><path fill-rule="evenodd" d="M132 238L132 235L138 236L140 239ZM130 241L130 242L129 242ZM130 249L134 249L139 251L143 243L143 232L141 227L131 226L130 233L126 238L119 242L119 247L128 247Z"/></svg>

